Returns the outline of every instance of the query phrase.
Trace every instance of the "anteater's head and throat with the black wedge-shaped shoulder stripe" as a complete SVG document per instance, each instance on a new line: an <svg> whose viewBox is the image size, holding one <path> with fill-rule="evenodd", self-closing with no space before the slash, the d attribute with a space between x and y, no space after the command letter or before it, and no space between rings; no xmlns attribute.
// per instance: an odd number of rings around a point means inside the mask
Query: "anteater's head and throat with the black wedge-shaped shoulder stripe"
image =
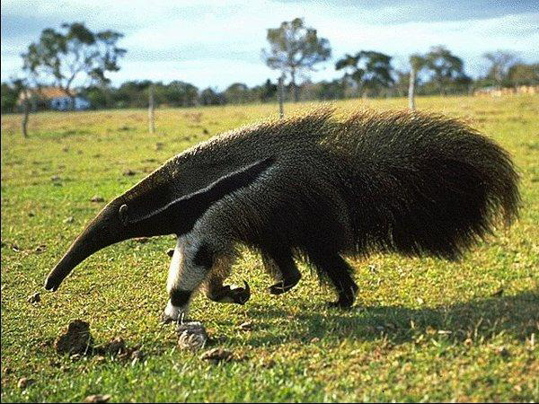
<svg viewBox="0 0 539 404"><path fill-rule="evenodd" d="M272 158L266 158L245 165L187 195L181 194L181 184L174 182L170 168L163 166L112 200L93 218L50 271L45 288L56 291L64 278L84 259L116 242L135 237L188 233L209 206L225 195L252 184L272 163Z"/></svg>

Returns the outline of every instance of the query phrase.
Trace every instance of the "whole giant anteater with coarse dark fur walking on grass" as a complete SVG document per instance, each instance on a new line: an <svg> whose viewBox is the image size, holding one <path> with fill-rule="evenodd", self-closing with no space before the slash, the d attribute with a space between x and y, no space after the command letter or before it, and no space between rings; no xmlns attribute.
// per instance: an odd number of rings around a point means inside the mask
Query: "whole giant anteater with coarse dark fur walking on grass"
<svg viewBox="0 0 539 404"><path fill-rule="evenodd" d="M314 110L178 154L110 202L84 231L107 233L106 240L83 233L47 285L56 289L82 259L113 242L176 233L175 301L189 301L205 282L210 298L244 303L242 288L222 285L234 247L244 244L261 251L276 277L271 293L296 285L294 259L306 259L347 307L357 286L343 256L458 259L499 219L516 218L517 180L508 153L458 119L371 110L339 119L329 108Z"/></svg>

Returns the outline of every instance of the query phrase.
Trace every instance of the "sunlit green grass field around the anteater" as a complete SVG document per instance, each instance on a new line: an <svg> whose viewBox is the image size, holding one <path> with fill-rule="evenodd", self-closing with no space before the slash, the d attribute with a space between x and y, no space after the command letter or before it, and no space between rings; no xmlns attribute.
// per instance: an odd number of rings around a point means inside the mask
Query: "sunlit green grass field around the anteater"
<svg viewBox="0 0 539 404"><path fill-rule="evenodd" d="M354 109L404 100L343 101ZM499 229L459 263L375 255L352 262L358 303L341 312L304 270L296 288L267 294L261 259L245 250L245 306L199 295L191 317L234 352L211 364L176 347L159 316L172 236L128 241L93 255L55 294L42 285L102 206L172 155L210 136L275 115L276 105L2 117L2 401L539 400L539 97L424 98L421 110L467 119L513 155L522 175L517 224ZM307 105L287 105L289 110ZM134 171L134 175L125 175ZM132 172L131 172L132 174ZM93 196L105 202L92 202ZM28 303L40 292L40 303ZM90 323L96 344L124 338L143 360L58 356L66 325ZM251 330L238 325L252 321ZM22 377L33 383L19 387Z"/></svg>

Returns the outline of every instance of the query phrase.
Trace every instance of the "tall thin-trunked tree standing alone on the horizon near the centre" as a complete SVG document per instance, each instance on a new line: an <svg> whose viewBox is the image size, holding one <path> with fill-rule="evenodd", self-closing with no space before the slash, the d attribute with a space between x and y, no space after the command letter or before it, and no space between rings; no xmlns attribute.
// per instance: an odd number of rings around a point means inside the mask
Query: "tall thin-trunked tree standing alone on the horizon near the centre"
<svg viewBox="0 0 539 404"><path fill-rule="evenodd" d="M282 22L278 28L268 29L270 49L262 49L262 58L270 68L290 77L294 100L298 101L297 75L305 75L314 66L331 57L329 40L318 38L314 28L305 27L301 18Z"/></svg>

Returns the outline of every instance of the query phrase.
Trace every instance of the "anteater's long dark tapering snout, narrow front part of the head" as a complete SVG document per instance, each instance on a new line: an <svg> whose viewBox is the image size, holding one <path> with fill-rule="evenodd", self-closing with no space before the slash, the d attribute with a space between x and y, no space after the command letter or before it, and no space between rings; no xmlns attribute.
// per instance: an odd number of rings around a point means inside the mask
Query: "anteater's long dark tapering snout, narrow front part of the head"
<svg viewBox="0 0 539 404"><path fill-rule="evenodd" d="M62 281L84 259L98 250L128 238L128 234L122 232L122 226L119 225L119 209L116 205L110 203L105 206L102 212L86 226L64 257L50 271L45 281L45 289L56 291Z"/></svg>

